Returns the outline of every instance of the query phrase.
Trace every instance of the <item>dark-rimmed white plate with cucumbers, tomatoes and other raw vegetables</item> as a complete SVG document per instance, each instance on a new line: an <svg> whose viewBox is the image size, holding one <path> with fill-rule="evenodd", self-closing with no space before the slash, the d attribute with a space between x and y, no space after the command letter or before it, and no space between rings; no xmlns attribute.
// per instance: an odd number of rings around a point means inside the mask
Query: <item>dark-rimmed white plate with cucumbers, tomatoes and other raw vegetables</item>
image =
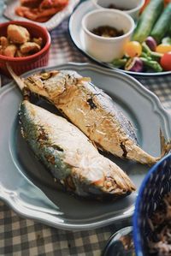
<svg viewBox="0 0 171 256"><path fill-rule="evenodd" d="M80 3L69 20L69 33L80 51L93 61L117 68L127 74L171 74L171 3L150 0L139 14L131 41L124 48L123 57L103 63L84 50L80 23L82 17L94 9L91 0Z"/></svg>

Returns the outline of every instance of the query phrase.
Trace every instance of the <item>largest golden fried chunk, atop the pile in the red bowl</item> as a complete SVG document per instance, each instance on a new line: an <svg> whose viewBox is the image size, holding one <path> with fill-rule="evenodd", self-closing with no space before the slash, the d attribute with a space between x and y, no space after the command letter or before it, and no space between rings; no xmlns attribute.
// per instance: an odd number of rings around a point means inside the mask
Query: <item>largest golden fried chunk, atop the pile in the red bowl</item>
<svg viewBox="0 0 171 256"><path fill-rule="evenodd" d="M7 28L9 41L16 44L24 44L30 40L30 33L27 28L10 24Z"/></svg>

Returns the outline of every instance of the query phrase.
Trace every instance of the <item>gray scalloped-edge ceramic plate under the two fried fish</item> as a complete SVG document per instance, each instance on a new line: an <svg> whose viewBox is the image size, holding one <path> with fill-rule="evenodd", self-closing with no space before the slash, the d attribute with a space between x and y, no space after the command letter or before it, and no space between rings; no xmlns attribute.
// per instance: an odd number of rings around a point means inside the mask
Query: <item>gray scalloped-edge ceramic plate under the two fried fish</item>
<svg viewBox="0 0 171 256"><path fill-rule="evenodd" d="M166 139L171 138L171 121L153 93L127 74L109 68L87 63L68 63L54 68L73 69L90 76L92 82L109 93L133 122L140 146L154 156L160 155L160 128ZM38 70L42 68L24 76ZM14 83L0 90L0 198L21 216L61 229L95 229L131 217L137 193L115 202L102 203L74 198L56 188L49 172L34 158L26 141L21 138L17 117L21 98L21 92ZM43 100L38 104L54 110ZM106 156L120 165L139 189L149 167L109 154Z"/></svg>

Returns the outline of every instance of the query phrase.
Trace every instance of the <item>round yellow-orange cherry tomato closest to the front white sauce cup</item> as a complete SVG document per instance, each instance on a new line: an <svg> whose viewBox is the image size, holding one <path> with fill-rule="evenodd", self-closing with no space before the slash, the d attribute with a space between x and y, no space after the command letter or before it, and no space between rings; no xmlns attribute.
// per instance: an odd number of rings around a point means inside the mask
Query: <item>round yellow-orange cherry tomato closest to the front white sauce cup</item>
<svg viewBox="0 0 171 256"><path fill-rule="evenodd" d="M137 41L130 41L125 45L124 51L129 57L139 57L142 52L142 46Z"/></svg>

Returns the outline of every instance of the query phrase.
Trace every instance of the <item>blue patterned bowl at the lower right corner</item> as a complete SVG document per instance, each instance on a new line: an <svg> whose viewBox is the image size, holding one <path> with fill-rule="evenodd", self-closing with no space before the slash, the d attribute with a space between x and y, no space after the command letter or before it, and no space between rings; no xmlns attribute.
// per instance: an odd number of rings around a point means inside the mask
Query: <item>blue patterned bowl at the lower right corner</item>
<svg viewBox="0 0 171 256"><path fill-rule="evenodd" d="M148 218L162 200L164 194L171 191L171 154L156 163L145 176L139 188L133 215L133 241L137 256L149 255L147 242L152 233Z"/></svg>

